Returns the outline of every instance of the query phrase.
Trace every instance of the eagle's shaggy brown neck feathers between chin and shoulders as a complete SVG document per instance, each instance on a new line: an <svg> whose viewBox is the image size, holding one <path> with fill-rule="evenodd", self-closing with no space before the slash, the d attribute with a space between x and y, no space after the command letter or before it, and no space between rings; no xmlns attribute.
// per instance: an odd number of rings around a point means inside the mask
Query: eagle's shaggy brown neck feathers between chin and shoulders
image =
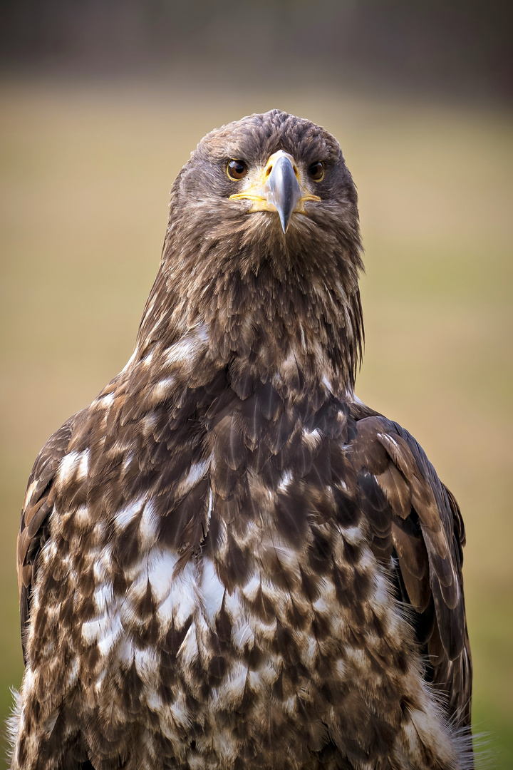
<svg viewBox="0 0 513 770"><path fill-rule="evenodd" d="M236 359L267 380L295 360L308 380L328 378L336 390L352 390L364 339L358 223L339 228L335 239L312 239L302 223L306 232L296 228L285 239L270 228L263 237L261 216L228 230L211 223L207 237L191 219L171 220L138 331L138 358L150 351L158 358L198 335L217 366Z"/></svg>

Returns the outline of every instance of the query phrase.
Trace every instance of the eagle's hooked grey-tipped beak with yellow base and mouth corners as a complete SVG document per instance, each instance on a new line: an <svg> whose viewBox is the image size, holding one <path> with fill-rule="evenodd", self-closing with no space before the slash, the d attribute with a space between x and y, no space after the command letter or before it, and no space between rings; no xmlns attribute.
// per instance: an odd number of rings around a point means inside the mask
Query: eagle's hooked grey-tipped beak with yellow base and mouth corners
<svg viewBox="0 0 513 770"><path fill-rule="evenodd" d="M232 199L248 199L252 206L248 213L254 211L275 211L281 222L281 229L286 233L292 213L305 213L305 202L321 200L319 196L311 195L305 184L298 181L299 172L292 156L282 149L268 159L265 169L248 189L230 196Z"/></svg>

